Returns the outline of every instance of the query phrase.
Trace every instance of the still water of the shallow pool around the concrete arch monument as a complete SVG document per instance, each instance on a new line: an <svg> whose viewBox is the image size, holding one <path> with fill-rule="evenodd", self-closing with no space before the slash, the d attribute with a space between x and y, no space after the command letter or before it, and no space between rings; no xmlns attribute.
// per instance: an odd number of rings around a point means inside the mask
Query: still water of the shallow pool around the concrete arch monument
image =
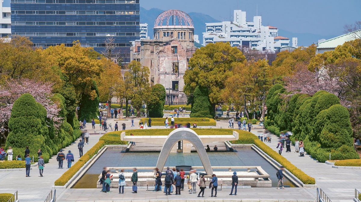
<svg viewBox="0 0 361 202"><path fill-rule="evenodd" d="M252 149L236 148L235 152L207 154L212 166L261 166L270 175L272 187L277 187L277 169ZM107 149L72 188L96 188L95 182L103 167L155 167L158 157L159 152L124 152L122 149ZM178 165L203 166L199 155L195 152L170 154L165 166ZM286 178L283 184L296 187Z"/></svg>

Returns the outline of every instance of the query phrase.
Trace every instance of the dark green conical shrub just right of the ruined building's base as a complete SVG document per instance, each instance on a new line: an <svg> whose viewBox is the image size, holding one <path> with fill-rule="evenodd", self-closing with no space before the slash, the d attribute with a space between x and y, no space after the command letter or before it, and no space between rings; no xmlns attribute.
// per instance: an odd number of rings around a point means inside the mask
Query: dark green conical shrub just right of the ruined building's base
<svg viewBox="0 0 361 202"><path fill-rule="evenodd" d="M214 110L209 100L209 91L206 87L197 86L194 90L190 117L214 117Z"/></svg>

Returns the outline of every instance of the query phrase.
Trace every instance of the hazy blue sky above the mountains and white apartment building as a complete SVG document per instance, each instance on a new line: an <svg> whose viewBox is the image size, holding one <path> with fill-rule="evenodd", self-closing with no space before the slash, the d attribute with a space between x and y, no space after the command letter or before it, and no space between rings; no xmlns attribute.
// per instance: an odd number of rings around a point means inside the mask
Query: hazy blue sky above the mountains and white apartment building
<svg viewBox="0 0 361 202"><path fill-rule="evenodd" d="M361 21L361 0L140 0L145 9L178 9L229 21L230 10L247 11L247 21L262 16L263 25L293 33L341 35L345 24ZM232 17L233 18L233 17Z"/></svg>

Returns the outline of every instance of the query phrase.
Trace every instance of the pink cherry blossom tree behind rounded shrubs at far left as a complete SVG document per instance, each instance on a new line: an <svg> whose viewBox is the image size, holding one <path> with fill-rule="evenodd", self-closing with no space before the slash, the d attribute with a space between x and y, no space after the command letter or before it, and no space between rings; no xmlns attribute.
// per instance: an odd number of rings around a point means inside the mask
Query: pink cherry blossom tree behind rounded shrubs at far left
<svg viewBox="0 0 361 202"><path fill-rule="evenodd" d="M55 128L59 128L62 118L58 117L60 111L58 103L51 100L53 96L51 86L49 83L35 82L30 79L6 81L4 85L0 86L0 126L6 126L8 123L15 100L22 94L29 93L36 102L45 107L47 117L53 121Z"/></svg>

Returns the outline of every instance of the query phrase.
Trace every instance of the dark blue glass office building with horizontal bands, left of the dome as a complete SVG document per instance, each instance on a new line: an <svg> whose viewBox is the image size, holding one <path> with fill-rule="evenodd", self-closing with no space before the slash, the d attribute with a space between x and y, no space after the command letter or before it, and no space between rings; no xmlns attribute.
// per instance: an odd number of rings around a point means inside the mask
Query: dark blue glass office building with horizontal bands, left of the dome
<svg viewBox="0 0 361 202"><path fill-rule="evenodd" d="M112 36L123 60L139 39L139 0L12 0L12 35L28 36L35 47L79 40L101 52Z"/></svg>

